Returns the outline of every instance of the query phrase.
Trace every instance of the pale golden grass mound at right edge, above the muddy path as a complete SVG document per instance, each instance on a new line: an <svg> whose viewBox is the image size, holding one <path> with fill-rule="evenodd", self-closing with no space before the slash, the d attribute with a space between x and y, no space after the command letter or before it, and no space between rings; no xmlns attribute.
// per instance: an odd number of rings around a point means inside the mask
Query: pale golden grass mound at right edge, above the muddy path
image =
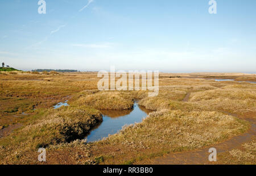
<svg viewBox="0 0 256 176"><path fill-rule="evenodd" d="M189 102L202 109L224 110L243 117L256 118L255 86L232 85L222 89L207 90L191 94Z"/></svg>

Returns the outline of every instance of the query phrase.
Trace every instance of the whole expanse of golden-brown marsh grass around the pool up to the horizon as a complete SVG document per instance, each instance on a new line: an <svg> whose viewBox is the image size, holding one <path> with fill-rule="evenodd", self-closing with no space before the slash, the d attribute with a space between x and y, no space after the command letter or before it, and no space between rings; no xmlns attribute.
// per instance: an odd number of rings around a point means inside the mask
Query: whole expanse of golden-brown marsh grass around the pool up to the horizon
<svg viewBox="0 0 256 176"><path fill-rule="evenodd" d="M40 146L47 147L46 164L139 164L246 131L247 123L222 111L249 118L256 114L254 84L212 80L251 81L251 74L161 73L159 95L149 98L148 91L98 91L97 73L16 73L0 74L0 126L23 127L0 139L1 164L39 164ZM188 102L183 102L188 93ZM71 106L52 110L53 104L67 99ZM134 99L156 112L106 140L78 140L101 121L97 110L129 110ZM20 116L22 112L30 115Z"/></svg>

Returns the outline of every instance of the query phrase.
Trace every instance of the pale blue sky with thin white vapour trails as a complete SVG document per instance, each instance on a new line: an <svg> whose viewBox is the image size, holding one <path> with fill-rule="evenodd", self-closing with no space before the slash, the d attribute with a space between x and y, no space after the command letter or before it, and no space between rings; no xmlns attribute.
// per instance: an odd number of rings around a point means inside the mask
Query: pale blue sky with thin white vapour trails
<svg viewBox="0 0 256 176"><path fill-rule="evenodd" d="M256 73L256 1L0 0L0 62L16 69Z"/></svg>

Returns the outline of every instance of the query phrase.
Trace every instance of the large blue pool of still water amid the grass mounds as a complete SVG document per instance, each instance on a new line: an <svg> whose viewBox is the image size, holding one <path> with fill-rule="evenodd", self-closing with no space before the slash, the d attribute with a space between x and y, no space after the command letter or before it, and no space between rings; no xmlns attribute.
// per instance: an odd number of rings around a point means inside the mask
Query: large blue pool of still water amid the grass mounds
<svg viewBox="0 0 256 176"><path fill-rule="evenodd" d="M103 121L89 133L86 137L87 141L93 142L113 135L122 129L123 125L141 122L150 112L152 111L146 110L146 108L139 106L137 103L134 104L133 110L101 110L104 115Z"/></svg>

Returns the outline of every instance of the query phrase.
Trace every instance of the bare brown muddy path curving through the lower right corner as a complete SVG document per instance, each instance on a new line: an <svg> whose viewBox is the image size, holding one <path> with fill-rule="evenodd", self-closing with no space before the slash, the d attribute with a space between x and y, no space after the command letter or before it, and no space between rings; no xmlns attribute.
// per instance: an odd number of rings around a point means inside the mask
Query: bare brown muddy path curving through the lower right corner
<svg viewBox="0 0 256 176"><path fill-rule="evenodd" d="M183 99L184 102L187 102L189 99L190 92ZM228 152L229 150L240 148L242 144L250 142L255 139L256 135L256 119L243 118L236 114L222 111L223 114L233 116L234 118L240 118L248 121L251 124L249 131L234 136L231 139L228 139L222 143L215 145L205 146L201 149L189 150L185 152L175 152L167 154L166 156L155 158L154 160L144 161L140 164L153 164L153 165L201 165L201 164L214 164L209 162L209 148L216 148L217 153Z"/></svg>

